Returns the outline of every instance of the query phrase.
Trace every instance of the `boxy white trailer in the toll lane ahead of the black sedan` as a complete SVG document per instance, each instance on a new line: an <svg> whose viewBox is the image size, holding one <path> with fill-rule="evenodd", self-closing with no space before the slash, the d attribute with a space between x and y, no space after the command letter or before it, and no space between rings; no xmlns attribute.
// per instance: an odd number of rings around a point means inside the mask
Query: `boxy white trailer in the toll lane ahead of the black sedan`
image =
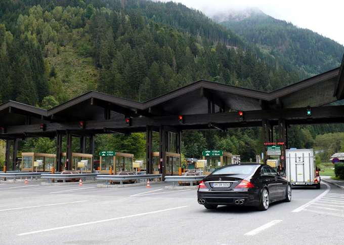
<svg viewBox="0 0 344 245"><path fill-rule="evenodd" d="M285 150L285 155L286 176L291 185L316 186L320 189L313 149L289 149Z"/></svg>

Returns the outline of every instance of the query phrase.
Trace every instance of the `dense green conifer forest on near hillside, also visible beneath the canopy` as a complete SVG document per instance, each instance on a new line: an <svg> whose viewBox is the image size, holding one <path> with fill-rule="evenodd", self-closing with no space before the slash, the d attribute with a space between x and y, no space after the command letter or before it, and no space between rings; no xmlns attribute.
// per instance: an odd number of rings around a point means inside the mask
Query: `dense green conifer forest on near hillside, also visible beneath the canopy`
<svg viewBox="0 0 344 245"><path fill-rule="evenodd" d="M304 40L310 41L312 35ZM0 102L16 100L49 109L90 90L146 101L199 79L271 91L317 71L305 73L295 65L303 61L289 62L297 58L292 55L288 60L279 58L181 4L0 2ZM317 135L340 129L297 126L289 137L292 146L312 147ZM198 157L203 149L221 148L254 159L262 149L260 138L259 129L184 132L183 153ZM145 135L98 136L96 146L140 158L145 156ZM55 142L27 139L20 149L54 152Z"/></svg>

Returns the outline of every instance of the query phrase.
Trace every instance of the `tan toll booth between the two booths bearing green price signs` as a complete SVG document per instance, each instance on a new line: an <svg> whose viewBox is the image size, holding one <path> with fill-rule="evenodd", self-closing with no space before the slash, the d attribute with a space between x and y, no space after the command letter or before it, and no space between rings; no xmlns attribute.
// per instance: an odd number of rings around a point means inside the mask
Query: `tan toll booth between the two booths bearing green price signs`
<svg viewBox="0 0 344 245"><path fill-rule="evenodd" d="M181 167L181 154L166 151L165 162L166 162L165 175L179 175L179 168ZM159 152L154 151L152 153L152 165L153 165L152 174L161 173L159 164L160 164Z"/></svg>

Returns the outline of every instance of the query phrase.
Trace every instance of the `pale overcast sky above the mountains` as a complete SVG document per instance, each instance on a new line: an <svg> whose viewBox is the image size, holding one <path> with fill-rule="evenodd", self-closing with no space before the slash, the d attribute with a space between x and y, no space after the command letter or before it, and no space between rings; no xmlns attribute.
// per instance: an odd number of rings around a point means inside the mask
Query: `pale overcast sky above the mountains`
<svg viewBox="0 0 344 245"><path fill-rule="evenodd" d="M163 2L167 2L164 0ZM344 45L343 0L173 0L209 17L231 8L257 7L264 13L308 28Z"/></svg>

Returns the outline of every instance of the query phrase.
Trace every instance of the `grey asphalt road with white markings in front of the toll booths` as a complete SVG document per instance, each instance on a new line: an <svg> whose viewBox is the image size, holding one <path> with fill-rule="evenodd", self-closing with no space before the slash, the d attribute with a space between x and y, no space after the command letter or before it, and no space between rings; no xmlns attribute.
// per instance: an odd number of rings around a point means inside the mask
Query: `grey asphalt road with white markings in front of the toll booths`
<svg viewBox="0 0 344 245"><path fill-rule="evenodd" d="M0 184L0 244L343 244L344 190L293 189L268 211L197 203L167 183Z"/></svg>

